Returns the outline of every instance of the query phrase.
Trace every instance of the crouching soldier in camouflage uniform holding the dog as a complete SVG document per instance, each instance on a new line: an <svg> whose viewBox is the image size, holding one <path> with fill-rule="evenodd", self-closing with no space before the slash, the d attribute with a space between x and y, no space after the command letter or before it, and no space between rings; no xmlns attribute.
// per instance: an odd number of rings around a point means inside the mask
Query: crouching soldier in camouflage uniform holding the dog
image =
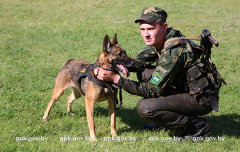
<svg viewBox="0 0 240 152"><path fill-rule="evenodd" d="M199 116L218 110L221 81L215 75L212 81L206 75L211 75L211 72L204 74L204 68L196 66L197 63L204 65L202 67L208 66L201 63L203 51L189 50L186 44L164 49L164 42L170 38L183 37L180 31L168 28L166 19L167 13L163 9L149 7L143 9L141 17L135 20L135 23L140 23L146 47L133 58L135 64L128 70L138 72L138 78L142 79L140 82L102 68L99 68L98 79L114 82L128 93L144 97L137 103L137 111L142 118L166 129L183 129L182 139L205 138L211 133L211 127ZM151 70L149 67L155 61L156 68ZM198 77L196 71L201 71L202 77L192 83L190 80Z"/></svg>

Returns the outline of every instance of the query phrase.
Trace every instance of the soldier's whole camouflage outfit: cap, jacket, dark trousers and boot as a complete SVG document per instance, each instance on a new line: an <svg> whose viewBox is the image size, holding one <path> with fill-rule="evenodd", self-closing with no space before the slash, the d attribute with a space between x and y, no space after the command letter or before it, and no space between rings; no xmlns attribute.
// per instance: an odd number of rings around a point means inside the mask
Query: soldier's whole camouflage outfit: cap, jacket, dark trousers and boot
<svg viewBox="0 0 240 152"><path fill-rule="evenodd" d="M152 14L155 13L162 14L159 18L166 19L165 11L150 7L142 11L142 16L138 21L148 21L149 16L146 17L144 14L150 14L150 19L152 19L154 16ZM181 36L181 32L168 29L165 41ZM157 66L151 79L147 82L136 82L121 77L118 86L130 94L144 97L137 103L138 113L144 119L172 130L185 127L183 138L206 137L211 133L210 124L198 116L208 114L213 110L210 97L218 101L219 90L210 90L211 94L205 90L201 94L190 95L183 89L184 86L178 83L179 78L186 75L186 71L199 60L201 55L202 52L195 49L190 52L186 45L167 49L163 54L161 50L153 46L146 46L134 58L136 63L134 67L129 68L129 71L143 71L156 61Z"/></svg>

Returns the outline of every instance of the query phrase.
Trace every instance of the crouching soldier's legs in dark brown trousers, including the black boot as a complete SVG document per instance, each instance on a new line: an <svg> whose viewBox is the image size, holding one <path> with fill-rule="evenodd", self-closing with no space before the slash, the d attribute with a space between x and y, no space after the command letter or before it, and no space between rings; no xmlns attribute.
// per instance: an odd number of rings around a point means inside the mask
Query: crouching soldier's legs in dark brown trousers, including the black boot
<svg viewBox="0 0 240 152"><path fill-rule="evenodd" d="M148 81L154 67L137 73L139 81ZM217 101L218 96L216 95ZM183 138L187 136L206 137L211 133L210 124L198 116L212 111L210 96L207 93L190 95L169 86L158 98L144 98L137 103L139 115L166 129L186 128Z"/></svg>

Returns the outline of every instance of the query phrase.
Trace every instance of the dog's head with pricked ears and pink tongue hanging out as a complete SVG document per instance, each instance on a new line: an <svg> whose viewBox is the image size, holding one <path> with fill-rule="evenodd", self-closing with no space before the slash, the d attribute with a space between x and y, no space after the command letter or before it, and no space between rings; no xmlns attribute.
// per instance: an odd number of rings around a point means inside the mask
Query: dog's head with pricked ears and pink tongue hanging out
<svg viewBox="0 0 240 152"><path fill-rule="evenodd" d="M128 77L130 73L127 67L131 67L133 64L133 59L128 57L126 51L118 44L117 34L112 43L106 35L103 41L103 52L99 57L99 66L104 68L104 65L107 65L110 67L109 69L116 70Z"/></svg>

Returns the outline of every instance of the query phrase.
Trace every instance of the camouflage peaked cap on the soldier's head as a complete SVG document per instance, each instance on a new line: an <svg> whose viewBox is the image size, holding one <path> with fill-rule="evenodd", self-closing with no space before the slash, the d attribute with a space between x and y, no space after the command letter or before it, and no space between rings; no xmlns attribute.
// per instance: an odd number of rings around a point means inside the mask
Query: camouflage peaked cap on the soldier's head
<svg viewBox="0 0 240 152"><path fill-rule="evenodd" d="M155 22L162 18L165 22L167 19L167 12L158 7L148 7L142 10L141 17L135 20L135 23L140 21Z"/></svg>

